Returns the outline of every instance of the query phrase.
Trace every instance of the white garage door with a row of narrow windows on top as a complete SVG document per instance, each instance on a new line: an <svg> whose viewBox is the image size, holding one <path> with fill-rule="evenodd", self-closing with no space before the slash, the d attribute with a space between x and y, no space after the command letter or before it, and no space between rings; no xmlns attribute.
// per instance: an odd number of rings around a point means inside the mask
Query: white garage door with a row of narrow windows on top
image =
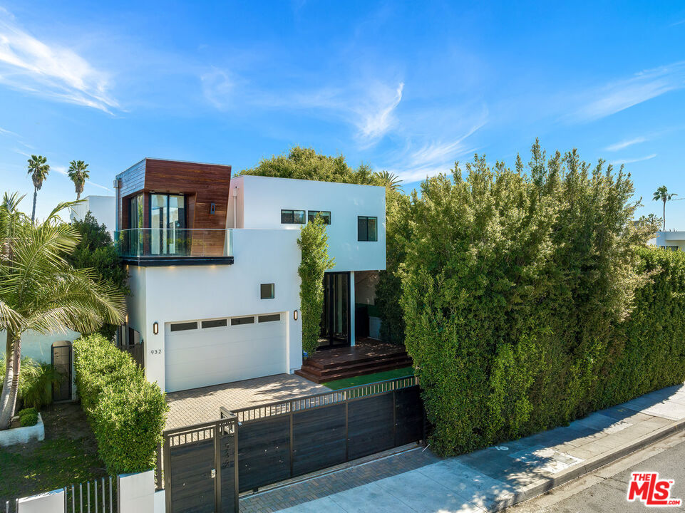
<svg viewBox="0 0 685 513"><path fill-rule="evenodd" d="M165 324L167 392L287 372L285 314Z"/></svg>

